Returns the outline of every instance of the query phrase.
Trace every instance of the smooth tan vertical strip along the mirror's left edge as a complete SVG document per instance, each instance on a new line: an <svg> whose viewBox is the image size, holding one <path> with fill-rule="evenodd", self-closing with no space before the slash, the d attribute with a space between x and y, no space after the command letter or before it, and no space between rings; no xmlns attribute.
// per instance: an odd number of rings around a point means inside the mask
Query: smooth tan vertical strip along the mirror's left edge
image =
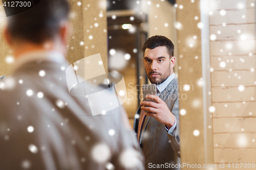
<svg viewBox="0 0 256 170"><path fill-rule="evenodd" d="M105 72L108 73L106 0L83 0L82 2L84 57L100 53ZM89 39L89 36L93 36L93 39Z"/></svg>

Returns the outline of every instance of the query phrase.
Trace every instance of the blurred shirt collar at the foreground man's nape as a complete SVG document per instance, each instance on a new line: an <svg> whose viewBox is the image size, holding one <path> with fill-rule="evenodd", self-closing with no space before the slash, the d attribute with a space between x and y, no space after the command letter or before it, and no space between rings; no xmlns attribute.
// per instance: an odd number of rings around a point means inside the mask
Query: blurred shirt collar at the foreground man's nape
<svg viewBox="0 0 256 170"><path fill-rule="evenodd" d="M66 58L58 51L33 51L18 56L18 59L14 62L13 71L17 70L24 64L33 61L52 61L56 63L62 63Z"/></svg>

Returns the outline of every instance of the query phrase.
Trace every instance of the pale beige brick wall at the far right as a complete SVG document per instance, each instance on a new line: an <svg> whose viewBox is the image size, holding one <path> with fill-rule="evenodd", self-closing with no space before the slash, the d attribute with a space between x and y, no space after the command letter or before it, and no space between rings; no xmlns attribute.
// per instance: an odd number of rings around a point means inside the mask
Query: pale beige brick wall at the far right
<svg viewBox="0 0 256 170"><path fill-rule="evenodd" d="M210 43L212 104L216 108L213 114L215 162L225 162L226 166L229 162L256 162L255 1L210 2L213 12L210 34L217 36ZM238 8L239 3L242 9ZM223 9L224 16L220 15ZM243 34L252 40L241 40ZM232 47L228 48L228 44ZM226 66L221 67L221 63ZM244 91L239 91L240 85Z"/></svg>

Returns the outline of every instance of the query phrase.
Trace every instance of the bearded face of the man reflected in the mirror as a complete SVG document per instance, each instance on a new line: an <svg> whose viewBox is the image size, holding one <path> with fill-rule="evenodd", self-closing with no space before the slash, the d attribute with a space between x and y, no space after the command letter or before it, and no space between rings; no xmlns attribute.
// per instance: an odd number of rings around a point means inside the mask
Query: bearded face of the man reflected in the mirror
<svg viewBox="0 0 256 170"><path fill-rule="evenodd" d="M166 46L158 46L154 49L146 48L144 53L144 66L148 79L152 84L163 83L173 73L172 60L169 57Z"/></svg>

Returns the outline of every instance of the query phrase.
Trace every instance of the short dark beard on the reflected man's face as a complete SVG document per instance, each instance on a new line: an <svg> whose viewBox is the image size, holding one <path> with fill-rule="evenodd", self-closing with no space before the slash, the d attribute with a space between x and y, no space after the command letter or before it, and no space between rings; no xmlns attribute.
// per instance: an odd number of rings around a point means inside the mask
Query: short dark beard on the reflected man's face
<svg viewBox="0 0 256 170"><path fill-rule="evenodd" d="M157 72L157 71L150 71L147 73L147 78L150 80L150 82L152 84L156 84L159 85L161 83L163 83L169 76L170 76L170 64L167 68L167 70L164 72L164 74L162 74L161 72ZM158 77L151 77L151 74L158 74Z"/></svg>

